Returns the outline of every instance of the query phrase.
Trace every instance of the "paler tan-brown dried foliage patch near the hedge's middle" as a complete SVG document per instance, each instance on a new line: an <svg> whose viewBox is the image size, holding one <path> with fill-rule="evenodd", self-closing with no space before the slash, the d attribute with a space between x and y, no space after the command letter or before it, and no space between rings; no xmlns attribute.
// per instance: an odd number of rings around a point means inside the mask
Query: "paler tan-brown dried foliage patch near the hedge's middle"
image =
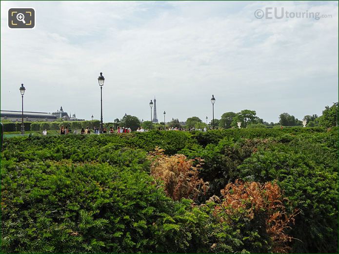
<svg viewBox="0 0 339 254"><path fill-rule="evenodd" d="M166 195L173 200L182 197L194 200L200 193L206 194L208 182L199 178L202 160L197 158L198 163L193 166L195 160L187 159L184 155L166 156L163 151L157 147L155 152L150 154L151 175L163 181Z"/></svg>

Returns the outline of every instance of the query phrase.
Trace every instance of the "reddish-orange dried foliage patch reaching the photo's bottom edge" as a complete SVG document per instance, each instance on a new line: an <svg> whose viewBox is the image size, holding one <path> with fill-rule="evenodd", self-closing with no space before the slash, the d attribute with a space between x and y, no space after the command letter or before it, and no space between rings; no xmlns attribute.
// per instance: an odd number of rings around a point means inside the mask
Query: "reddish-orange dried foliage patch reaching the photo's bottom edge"
<svg viewBox="0 0 339 254"><path fill-rule="evenodd" d="M215 215L218 215L221 210L226 215L231 215L234 210L241 209L245 211L246 216L253 219L256 213L265 211L266 232L272 239L273 252L290 251L287 243L292 241L292 237L285 234L285 231L291 228L289 225L294 224L298 211L294 211L291 215L286 213L282 201L287 199L282 197L277 183L260 184L236 180L234 184L227 184L220 192L223 200L221 205L216 207Z"/></svg>

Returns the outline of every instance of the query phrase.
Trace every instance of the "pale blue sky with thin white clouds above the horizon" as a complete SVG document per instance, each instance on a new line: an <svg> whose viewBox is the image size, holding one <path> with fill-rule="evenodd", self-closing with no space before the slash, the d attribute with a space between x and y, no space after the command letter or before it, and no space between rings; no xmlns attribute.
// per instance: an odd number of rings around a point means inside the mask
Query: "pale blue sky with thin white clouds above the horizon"
<svg viewBox="0 0 339 254"><path fill-rule="evenodd" d="M1 1L0 108L103 121L255 110L321 115L338 101L338 1ZM8 9L33 7L34 29ZM259 10L259 11L258 11ZM271 12L276 10L276 16ZM265 15L256 18L262 11ZM284 15L281 17L280 12ZM286 11L288 14L286 14ZM321 16L301 18L298 13ZM293 15L296 17L293 17ZM272 18L272 19L270 19Z"/></svg>

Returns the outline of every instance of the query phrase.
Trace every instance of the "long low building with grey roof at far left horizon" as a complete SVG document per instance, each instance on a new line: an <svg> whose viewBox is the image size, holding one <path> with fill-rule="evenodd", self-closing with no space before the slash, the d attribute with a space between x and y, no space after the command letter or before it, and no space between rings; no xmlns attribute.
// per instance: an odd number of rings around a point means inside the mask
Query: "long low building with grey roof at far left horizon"
<svg viewBox="0 0 339 254"><path fill-rule="evenodd" d="M13 111L13 110L1 110L1 120L10 120L13 122L20 122L22 117L21 111ZM53 116L50 113L45 112L30 112L24 111L23 112L23 120L27 122L33 121L55 121L57 119L56 116Z"/></svg>

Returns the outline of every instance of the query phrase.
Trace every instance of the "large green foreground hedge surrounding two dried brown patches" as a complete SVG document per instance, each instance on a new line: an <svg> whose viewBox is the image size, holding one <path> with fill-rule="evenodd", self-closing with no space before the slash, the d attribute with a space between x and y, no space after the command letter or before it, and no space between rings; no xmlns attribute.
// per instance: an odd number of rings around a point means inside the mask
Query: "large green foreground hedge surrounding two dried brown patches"
<svg viewBox="0 0 339 254"><path fill-rule="evenodd" d="M149 176L156 146L203 159L195 204ZM4 253L269 253L260 224L199 206L238 178L277 180L298 209L292 253L338 253L337 127L13 137L1 159Z"/></svg>

